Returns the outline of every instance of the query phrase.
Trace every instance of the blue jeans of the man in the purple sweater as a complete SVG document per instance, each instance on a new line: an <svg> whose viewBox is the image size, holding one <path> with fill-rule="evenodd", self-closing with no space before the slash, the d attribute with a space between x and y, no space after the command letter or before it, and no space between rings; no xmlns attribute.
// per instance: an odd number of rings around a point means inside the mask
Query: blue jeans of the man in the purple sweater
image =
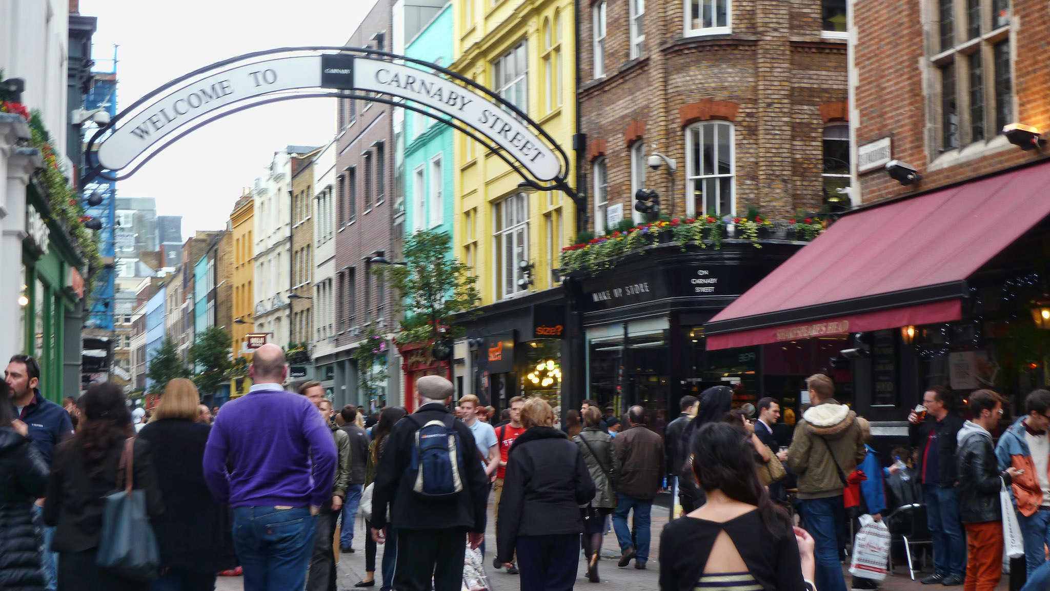
<svg viewBox="0 0 1050 591"><path fill-rule="evenodd" d="M317 520L308 507L236 507L233 547L245 567L245 591L301 591Z"/></svg>

